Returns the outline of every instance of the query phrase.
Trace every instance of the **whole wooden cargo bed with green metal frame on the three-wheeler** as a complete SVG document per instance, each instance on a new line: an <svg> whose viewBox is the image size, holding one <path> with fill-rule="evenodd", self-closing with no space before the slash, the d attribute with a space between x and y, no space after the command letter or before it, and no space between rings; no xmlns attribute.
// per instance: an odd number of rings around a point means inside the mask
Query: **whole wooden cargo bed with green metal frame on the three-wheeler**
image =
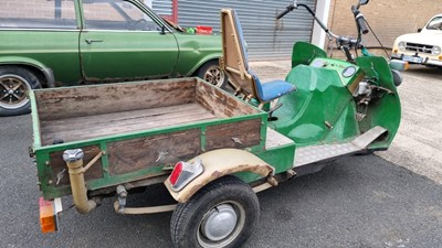
<svg viewBox="0 0 442 248"><path fill-rule="evenodd" d="M266 112L198 78L38 89L34 153L45 198L70 194L63 152L82 149L90 191L158 176L203 152L265 148Z"/></svg>

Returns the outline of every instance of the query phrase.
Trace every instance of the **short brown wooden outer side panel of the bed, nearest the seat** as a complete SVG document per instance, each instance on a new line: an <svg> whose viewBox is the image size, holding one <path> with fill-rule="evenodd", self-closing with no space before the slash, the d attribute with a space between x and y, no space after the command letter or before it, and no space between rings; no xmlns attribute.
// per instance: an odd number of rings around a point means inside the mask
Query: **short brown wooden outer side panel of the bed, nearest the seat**
<svg viewBox="0 0 442 248"><path fill-rule="evenodd" d="M243 149L260 144L261 118L207 127L206 150Z"/></svg>

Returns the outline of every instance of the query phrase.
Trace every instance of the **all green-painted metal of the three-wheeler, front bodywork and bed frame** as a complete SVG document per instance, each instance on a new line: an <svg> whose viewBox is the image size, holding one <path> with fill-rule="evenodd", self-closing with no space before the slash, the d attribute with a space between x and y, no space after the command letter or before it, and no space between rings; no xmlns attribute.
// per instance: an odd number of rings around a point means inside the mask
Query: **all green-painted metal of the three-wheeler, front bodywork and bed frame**
<svg viewBox="0 0 442 248"><path fill-rule="evenodd" d="M191 43L191 37L188 40ZM189 44L189 47L192 45ZM297 47L312 47L298 45ZM189 48L190 51L191 48ZM294 84L297 91L280 98L283 107L275 111L278 117L276 121L267 121L267 114L245 115L240 117L218 119L215 121L201 121L190 125L180 125L168 128L157 128L144 131L115 134L97 139L69 142L62 144L51 144L42 147L40 140L40 123L36 110L34 94L31 94L32 118L34 129L33 152L36 157L38 172L41 191L48 200L61 197L71 193L70 185L57 186L54 184L56 173L51 170L51 153L61 152L67 149L85 148L97 145L99 150L106 151L107 144L114 141L146 138L149 136L169 133L181 130L196 129L200 132L201 153L206 152L206 130L210 126L232 123L235 121L259 118L261 120L260 143L253 147L243 148L252 154L259 157L275 169L275 173L283 173L293 169L295 164L295 149L307 145L323 143L343 143L368 131L372 127L381 126L388 130L388 134L382 139L371 143L369 149L387 149L391 143L400 123L400 101L392 82L392 75L388 63L382 57L367 56L356 60L356 64L338 60L324 57L324 53L318 48L312 51L294 51L301 54L299 63L288 73L286 82ZM190 53L190 52L189 52ZM318 54L316 56L315 54ZM297 54L298 56L299 54ZM312 56L314 55L314 56ZM197 56L197 55L196 55ZM304 58L303 58L304 57ZM306 65L306 57L308 65ZM319 63L318 60L322 60ZM304 61L304 62L302 62ZM320 66L318 66L320 65ZM352 66L355 72L345 76L344 71ZM191 66L189 65L188 69ZM356 115L360 112L352 91L354 84L359 80L369 80L370 84L387 88L390 93L375 93L373 99L365 111L366 117L357 120ZM351 89L351 90L350 90ZM251 103L253 105L253 103ZM266 130L272 128L294 142L277 145L266 150ZM191 158L189 158L191 159ZM103 176L86 182L88 191L113 187L119 184L155 177L168 174L165 166L160 164L125 174L112 175L108 172L109 161L107 154L102 158ZM251 183L262 176L251 172L240 172L235 174L243 181Z"/></svg>

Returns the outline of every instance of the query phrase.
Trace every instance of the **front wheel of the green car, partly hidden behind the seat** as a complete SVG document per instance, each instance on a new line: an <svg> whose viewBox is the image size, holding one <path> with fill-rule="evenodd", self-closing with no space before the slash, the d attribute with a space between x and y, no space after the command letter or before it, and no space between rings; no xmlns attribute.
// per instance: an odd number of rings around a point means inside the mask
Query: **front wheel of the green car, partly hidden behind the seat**
<svg viewBox="0 0 442 248"><path fill-rule="evenodd" d="M198 71L197 76L219 88L224 88L228 85L228 75L220 68L218 61L207 62Z"/></svg>

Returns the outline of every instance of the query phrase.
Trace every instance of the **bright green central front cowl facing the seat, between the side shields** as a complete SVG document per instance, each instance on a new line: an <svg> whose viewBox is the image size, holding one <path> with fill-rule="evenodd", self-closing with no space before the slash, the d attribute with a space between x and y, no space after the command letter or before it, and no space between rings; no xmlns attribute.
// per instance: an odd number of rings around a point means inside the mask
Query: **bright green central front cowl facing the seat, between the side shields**
<svg viewBox="0 0 442 248"><path fill-rule="evenodd" d="M356 120L350 118L355 116L352 96L336 71L298 65L285 80L296 85L297 91L281 98L283 107L274 114L278 120L272 122L275 130L298 147L358 134Z"/></svg>

